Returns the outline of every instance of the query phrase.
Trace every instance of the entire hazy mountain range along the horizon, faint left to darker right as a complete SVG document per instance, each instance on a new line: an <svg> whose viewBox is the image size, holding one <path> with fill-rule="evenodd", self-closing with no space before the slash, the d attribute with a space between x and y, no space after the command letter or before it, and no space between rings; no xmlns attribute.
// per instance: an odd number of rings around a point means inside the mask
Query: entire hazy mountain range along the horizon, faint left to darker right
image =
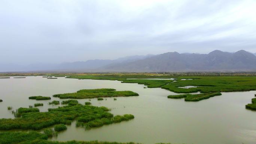
<svg viewBox="0 0 256 144"><path fill-rule="evenodd" d="M95 59L61 64L1 64L0 71L256 71L256 53L245 50L234 53L214 50L208 54L167 52L160 55L135 55L115 60Z"/></svg>

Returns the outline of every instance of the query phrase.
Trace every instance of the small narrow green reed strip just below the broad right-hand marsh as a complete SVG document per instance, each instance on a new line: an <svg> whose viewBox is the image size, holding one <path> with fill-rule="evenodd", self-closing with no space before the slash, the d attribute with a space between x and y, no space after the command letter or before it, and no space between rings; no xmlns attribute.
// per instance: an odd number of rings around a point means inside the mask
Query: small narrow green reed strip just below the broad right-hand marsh
<svg viewBox="0 0 256 144"><path fill-rule="evenodd" d="M202 93L202 94L183 94L183 95L169 95L168 98L185 98L185 101L201 101L210 97L221 95L220 92Z"/></svg>

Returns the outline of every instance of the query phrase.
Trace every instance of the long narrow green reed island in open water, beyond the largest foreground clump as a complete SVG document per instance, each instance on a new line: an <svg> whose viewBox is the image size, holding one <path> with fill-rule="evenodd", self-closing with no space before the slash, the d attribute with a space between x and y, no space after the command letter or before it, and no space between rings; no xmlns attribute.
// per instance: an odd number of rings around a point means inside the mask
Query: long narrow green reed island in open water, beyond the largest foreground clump
<svg viewBox="0 0 256 144"><path fill-rule="evenodd" d="M116 91L115 89L82 89L74 93L56 94L59 98L99 98L99 97L117 97L117 96L138 96L132 91Z"/></svg>

